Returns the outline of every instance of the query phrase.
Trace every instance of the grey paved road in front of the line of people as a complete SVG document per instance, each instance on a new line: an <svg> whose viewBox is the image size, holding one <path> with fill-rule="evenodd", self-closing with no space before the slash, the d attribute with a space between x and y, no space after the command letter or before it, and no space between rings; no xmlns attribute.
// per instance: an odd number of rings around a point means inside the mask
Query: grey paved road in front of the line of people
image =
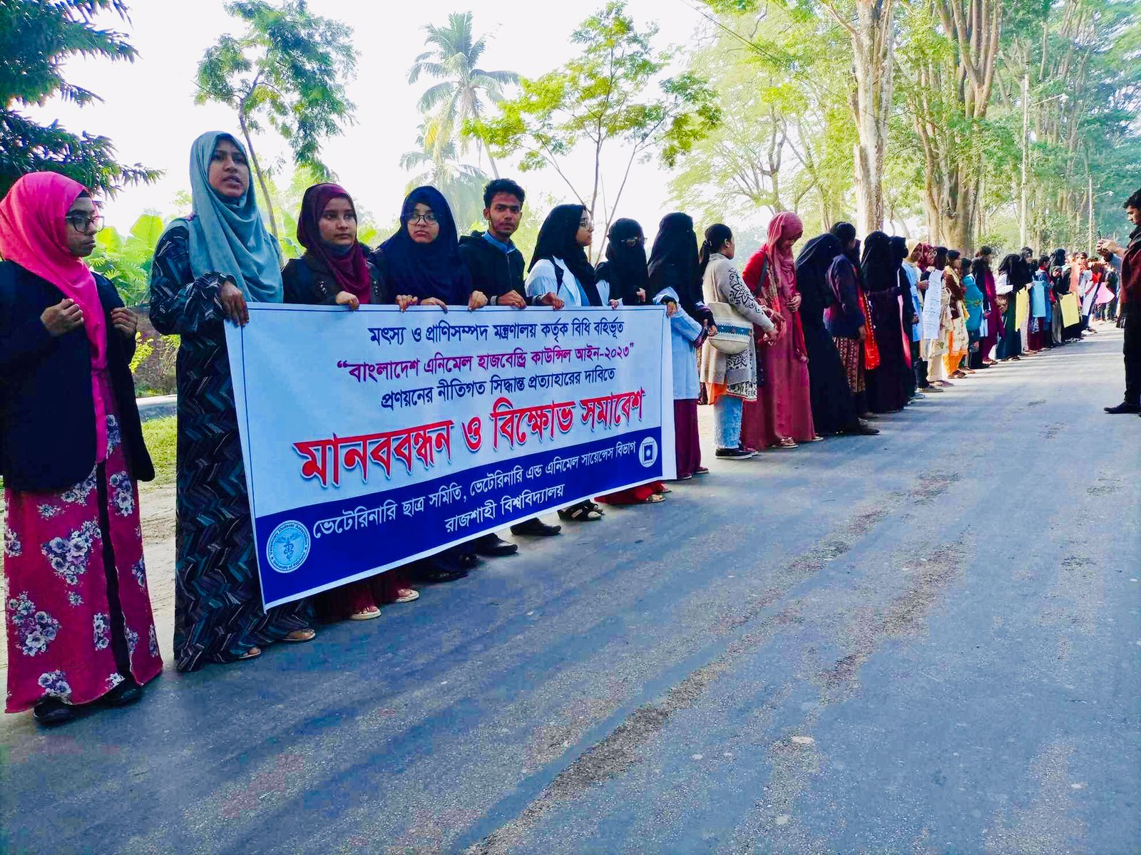
<svg viewBox="0 0 1141 855"><path fill-rule="evenodd" d="M7 850L1139 852L1119 347L714 464L133 709L8 716Z"/></svg>

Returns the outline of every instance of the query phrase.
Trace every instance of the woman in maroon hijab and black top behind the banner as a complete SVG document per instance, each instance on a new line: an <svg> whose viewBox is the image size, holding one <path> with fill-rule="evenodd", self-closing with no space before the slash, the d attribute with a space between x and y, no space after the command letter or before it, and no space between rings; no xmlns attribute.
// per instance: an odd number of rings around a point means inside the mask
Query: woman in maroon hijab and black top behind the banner
<svg viewBox="0 0 1141 855"><path fill-rule="evenodd" d="M369 261L369 247L357 241L356 206L335 184L316 184L305 192L297 220L297 242L305 247L282 270L286 303L343 306L389 303L386 283ZM316 597L327 620L371 620L382 603L410 603L420 594L403 569L349 583Z"/></svg>

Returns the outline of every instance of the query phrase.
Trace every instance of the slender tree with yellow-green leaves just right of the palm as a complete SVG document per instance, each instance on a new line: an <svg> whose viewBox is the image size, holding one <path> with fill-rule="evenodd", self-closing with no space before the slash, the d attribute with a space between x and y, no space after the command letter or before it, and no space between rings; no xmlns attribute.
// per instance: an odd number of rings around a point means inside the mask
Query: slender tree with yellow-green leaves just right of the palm
<svg viewBox="0 0 1141 855"><path fill-rule="evenodd" d="M502 101L499 115L469 122L466 132L499 156L521 154L524 171L553 169L592 218L601 203L608 230L634 163L656 150L673 166L721 121L713 91L688 72L662 80L658 95L647 92L671 59L650 47L656 33L639 32L625 3L612 0L572 34L580 49L574 59L536 80L520 79L518 97ZM585 181L568 174L580 145L592 154ZM605 166L618 146L629 154L614 174L617 192L606 199Z"/></svg>

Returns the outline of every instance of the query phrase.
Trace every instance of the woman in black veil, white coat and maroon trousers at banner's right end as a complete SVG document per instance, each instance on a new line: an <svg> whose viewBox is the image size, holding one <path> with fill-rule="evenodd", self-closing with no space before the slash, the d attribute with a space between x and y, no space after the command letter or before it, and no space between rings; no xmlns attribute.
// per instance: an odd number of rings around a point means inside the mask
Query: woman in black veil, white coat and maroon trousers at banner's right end
<svg viewBox="0 0 1141 855"><path fill-rule="evenodd" d="M673 430L678 480L704 475L702 443L697 432L697 353L706 335L717 332L713 312L702 298L697 261L697 234L689 214L662 218L649 253L649 299L665 306L670 317L673 357Z"/></svg>

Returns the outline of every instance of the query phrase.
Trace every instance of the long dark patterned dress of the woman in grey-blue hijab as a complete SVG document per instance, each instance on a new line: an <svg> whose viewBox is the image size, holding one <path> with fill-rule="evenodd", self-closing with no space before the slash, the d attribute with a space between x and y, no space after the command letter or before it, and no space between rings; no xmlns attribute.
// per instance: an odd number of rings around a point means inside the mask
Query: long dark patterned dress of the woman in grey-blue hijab
<svg viewBox="0 0 1141 855"><path fill-rule="evenodd" d="M178 348L175 659L180 671L230 662L309 627L308 601L261 608L250 500L226 353L220 277L191 270L189 233L155 247L151 321Z"/></svg>

